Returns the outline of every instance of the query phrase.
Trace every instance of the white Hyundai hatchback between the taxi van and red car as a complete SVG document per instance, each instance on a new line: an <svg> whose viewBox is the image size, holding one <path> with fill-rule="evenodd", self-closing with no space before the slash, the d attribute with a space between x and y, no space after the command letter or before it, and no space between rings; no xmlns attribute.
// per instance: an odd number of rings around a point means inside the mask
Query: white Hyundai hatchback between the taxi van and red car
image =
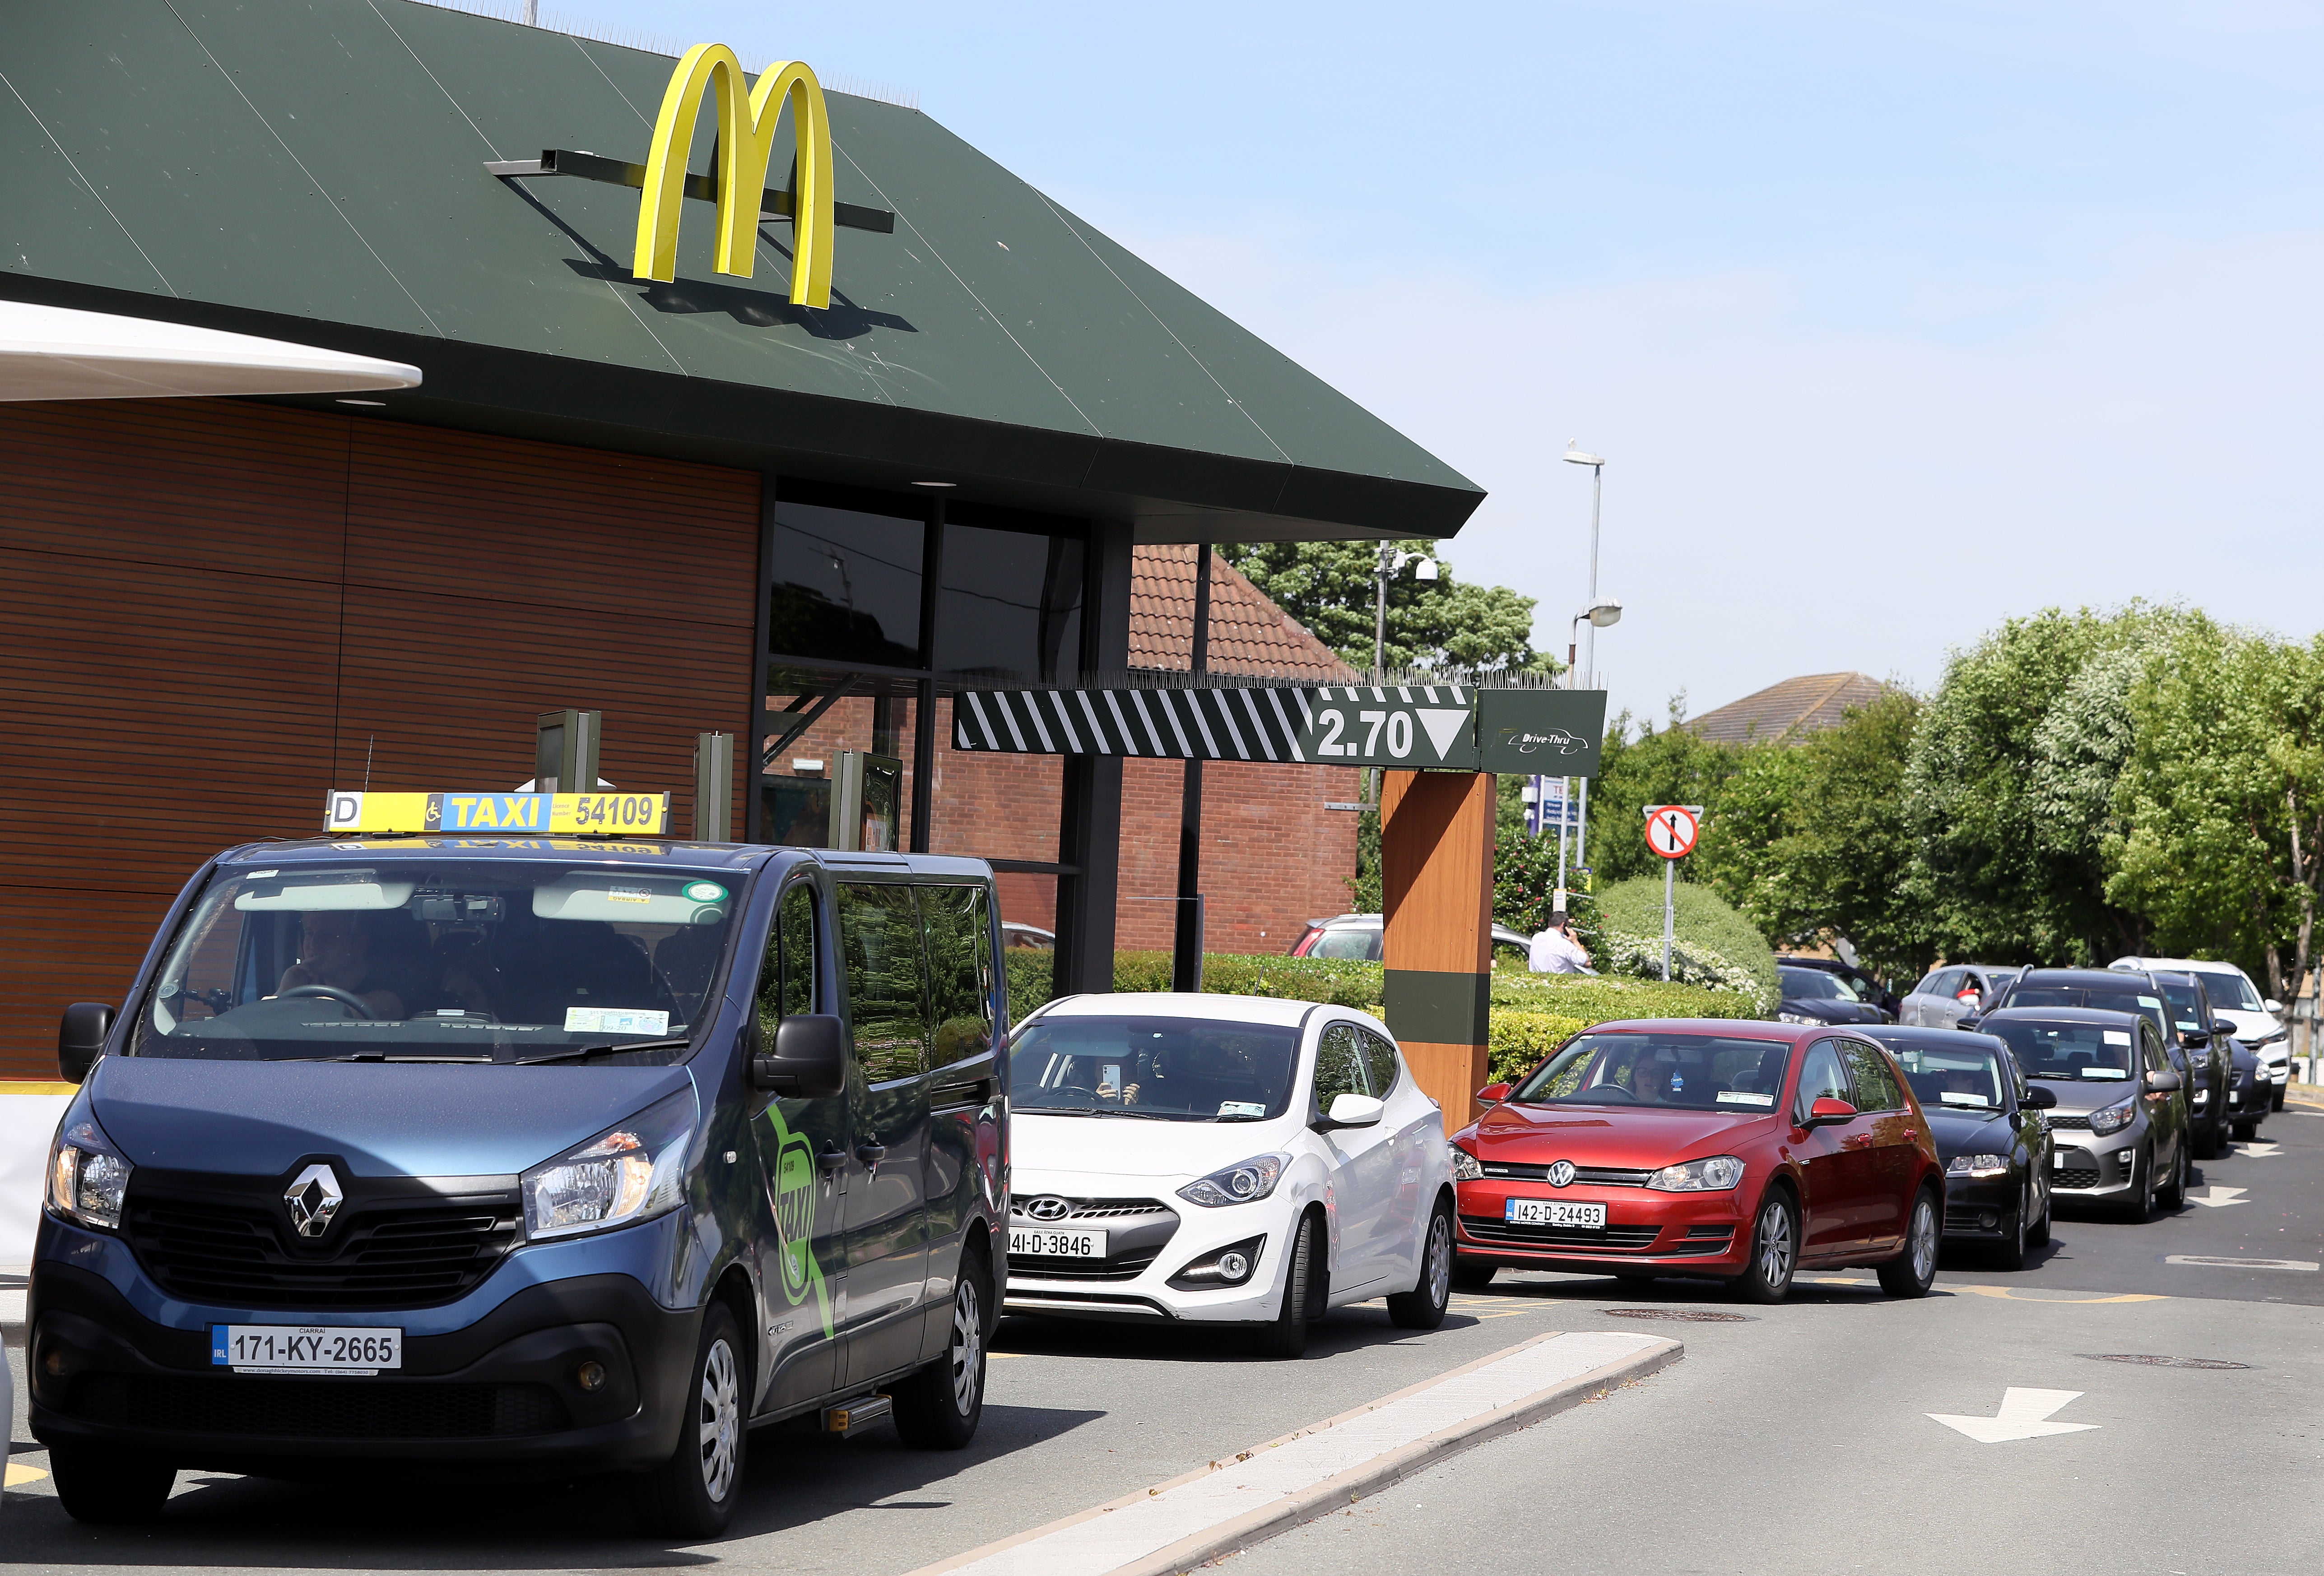
<svg viewBox="0 0 2324 1576"><path fill-rule="evenodd" d="M1369 1013L1083 995L1009 1044L1009 1313L1248 1325L1276 1357L1387 1297L1452 1292L1452 1155Z"/></svg>

